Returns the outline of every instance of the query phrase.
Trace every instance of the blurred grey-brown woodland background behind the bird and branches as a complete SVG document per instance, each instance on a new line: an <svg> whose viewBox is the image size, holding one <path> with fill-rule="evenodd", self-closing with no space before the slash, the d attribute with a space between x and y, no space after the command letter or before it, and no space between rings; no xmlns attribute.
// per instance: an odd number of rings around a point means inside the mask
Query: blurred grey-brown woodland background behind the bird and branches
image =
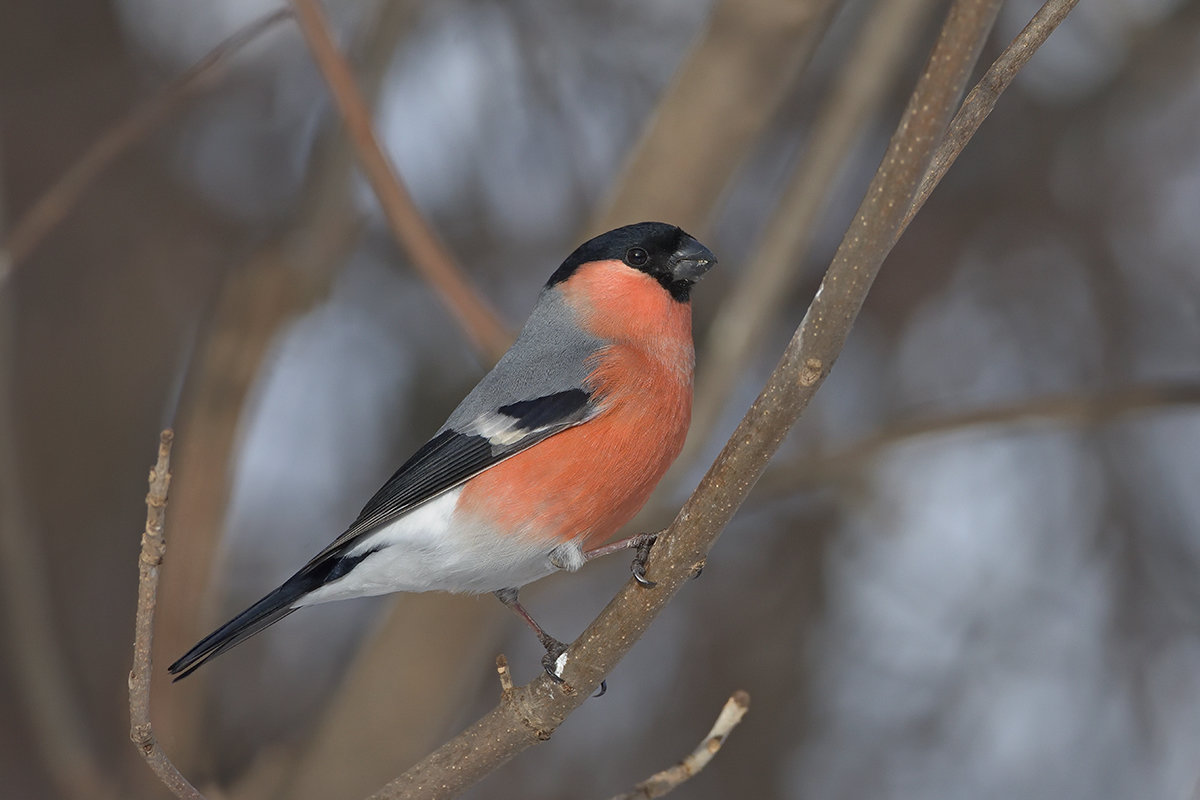
<svg viewBox="0 0 1200 800"><path fill-rule="evenodd" d="M811 62L750 65L776 88L745 97L761 124L710 211L670 219L721 259L696 290L701 386L709 326L882 7L829 5ZM721 377L730 402L647 527L670 521L799 323L944 14L924 6L794 253L781 314ZM984 64L1037 6L1004 5ZM0 230L275 7L7 0ZM514 327L604 210L626 207L614 186L637 187L625 164L691 48L719 36L756 52L731 8L326 4L418 204ZM680 148L727 122L678 131ZM365 796L496 702L497 652L518 680L536 674L536 642L494 600L428 595L307 609L164 680L340 533L486 368L350 164L284 22L91 180L0 287L5 798L166 796L126 705L145 471L166 425L155 720L209 796ZM644 190L698 196L708 170ZM1198 222L1200 4L1080 4L884 265L703 577L606 697L470 796L610 796L690 750L744 688L749 716L680 796L1193 800ZM626 570L618 557L523 596L570 639Z"/></svg>

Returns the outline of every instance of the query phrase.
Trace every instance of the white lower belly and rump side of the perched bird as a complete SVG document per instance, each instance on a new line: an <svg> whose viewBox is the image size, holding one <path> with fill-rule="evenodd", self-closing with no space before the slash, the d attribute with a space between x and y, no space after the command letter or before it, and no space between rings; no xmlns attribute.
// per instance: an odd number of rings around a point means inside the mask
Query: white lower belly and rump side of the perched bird
<svg viewBox="0 0 1200 800"><path fill-rule="evenodd" d="M460 494L461 488L446 492L364 536L348 555L376 552L294 607L391 591L496 591L523 587L558 569L550 560L557 542L497 534L479 521L456 516ZM560 555L557 560L563 561Z"/></svg>

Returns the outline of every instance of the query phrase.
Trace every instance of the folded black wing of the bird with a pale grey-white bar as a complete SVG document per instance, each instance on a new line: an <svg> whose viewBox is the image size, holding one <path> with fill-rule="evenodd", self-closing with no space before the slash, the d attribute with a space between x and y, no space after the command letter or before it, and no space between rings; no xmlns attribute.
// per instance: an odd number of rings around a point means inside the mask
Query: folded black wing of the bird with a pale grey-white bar
<svg viewBox="0 0 1200 800"><path fill-rule="evenodd" d="M443 431L413 453L367 501L354 524L308 564L344 553L365 534L599 410L587 391L569 389L502 405L478 417L467 431Z"/></svg>

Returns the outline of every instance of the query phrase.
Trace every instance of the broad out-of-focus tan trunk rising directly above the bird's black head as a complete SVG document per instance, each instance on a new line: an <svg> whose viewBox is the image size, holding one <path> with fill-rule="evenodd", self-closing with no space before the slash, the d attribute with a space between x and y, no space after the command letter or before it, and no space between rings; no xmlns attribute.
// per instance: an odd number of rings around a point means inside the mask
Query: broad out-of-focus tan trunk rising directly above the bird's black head
<svg viewBox="0 0 1200 800"><path fill-rule="evenodd" d="M733 173L812 58L838 5L720 0L592 233L665 219L702 235Z"/></svg>

